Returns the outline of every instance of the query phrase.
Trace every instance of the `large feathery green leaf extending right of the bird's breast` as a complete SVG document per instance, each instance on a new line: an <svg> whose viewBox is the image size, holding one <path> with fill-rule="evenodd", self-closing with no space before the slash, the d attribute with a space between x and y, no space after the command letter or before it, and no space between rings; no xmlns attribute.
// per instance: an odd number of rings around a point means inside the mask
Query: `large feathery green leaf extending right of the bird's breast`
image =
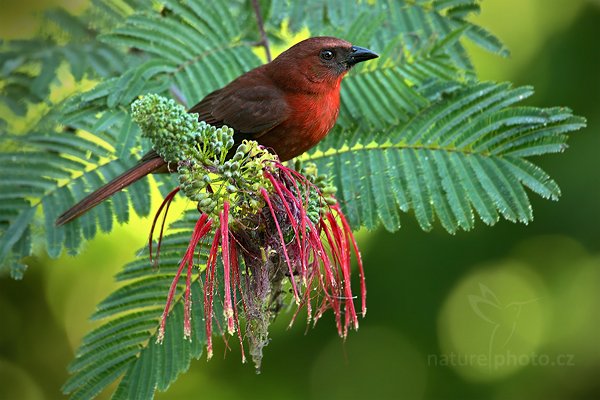
<svg viewBox="0 0 600 400"><path fill-rule="evenodd" d="M389 75L386 82L403 85L400 75ZM524 186L544 198L560 196L558 185L526 157L564 150L566 133L583 127L583 118L566 108L517 106L532 90L508 84L464 86L412 114L402 107L402 93L417 96L419 88L379 98L378 112L369 103L375 99L351 97L350 104L363 99L358 107L375 132L338 129L306 157L336 177L354 226L382 223L396 230L396 207L412 209L425 230L436 217L451 233L469 230L473 210L489 225L499 216L527 223L533 214ZM420 104L425 99L415 98Z"/></svg>

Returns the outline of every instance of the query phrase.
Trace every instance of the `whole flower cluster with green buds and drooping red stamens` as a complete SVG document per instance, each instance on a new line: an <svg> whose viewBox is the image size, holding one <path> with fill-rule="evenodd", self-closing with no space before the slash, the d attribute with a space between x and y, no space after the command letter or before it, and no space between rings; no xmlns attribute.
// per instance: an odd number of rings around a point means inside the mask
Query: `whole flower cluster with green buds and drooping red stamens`
<svg viewBox="0 0 600 400"><path fill-rule="evenodd" d="M204 278L207 352L212 355L215 298L223 302L226 331L236 334L245 359L240 319L257 368L268 343L268 327L283 306L289 285L298 311L305 308L316 322L332 309L340 336L358 328L351 281L351 253L356 255L361 286L361 312L366 312L366 288L360 253L352 230L335 200L335 188L318 174L315 164L290 168L254 141L235 142L232 129L197 122L183 107L148 95L133 106L133 118L150 138L155 151L176 165L179 187L166 196L156 213L153 233L178 192L197 203L200 216L167 296L158 340L185 271L184 334L191 335L191 281L194 254L208 241ZM217 273L218 260L223 271ZM222 277L222 282L218 280ZM222 283L222 285L221 285ZM298 311L292 318L295 319Z"/></svg>

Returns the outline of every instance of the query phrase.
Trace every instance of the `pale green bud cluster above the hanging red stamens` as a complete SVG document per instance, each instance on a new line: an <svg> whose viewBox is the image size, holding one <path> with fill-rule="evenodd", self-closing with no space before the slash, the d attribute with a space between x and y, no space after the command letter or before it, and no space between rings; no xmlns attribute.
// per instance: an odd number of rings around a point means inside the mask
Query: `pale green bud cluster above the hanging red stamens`
<svg viewBox="0 0 600 400"><path fill-rule="evenodd" d="M263 172L277 158L258 143L244 140L234 150L233 129L198 122L196 114L158 95L141 97L132 111L154 150L177 164L180 188L201 212L216 217L228 202L235 218L264 206L260 190L271 184Z"/></svg>

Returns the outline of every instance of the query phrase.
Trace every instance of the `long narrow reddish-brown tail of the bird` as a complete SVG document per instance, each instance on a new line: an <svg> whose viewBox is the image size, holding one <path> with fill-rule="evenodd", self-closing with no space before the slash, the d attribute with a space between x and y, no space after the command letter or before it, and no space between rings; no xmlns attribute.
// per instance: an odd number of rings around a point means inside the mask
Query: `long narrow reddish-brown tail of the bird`
<svg viewBox="0 0 600 400"><path fill-rule="evenodd" d="M142 162L119 175L100 189L85 197L79 203L69 208L56 219L56 226L61 226L80 217L104 200L123 190L132 183L140 180L151 172L164 169L165 162L160 157L142 159Z"/></svg>

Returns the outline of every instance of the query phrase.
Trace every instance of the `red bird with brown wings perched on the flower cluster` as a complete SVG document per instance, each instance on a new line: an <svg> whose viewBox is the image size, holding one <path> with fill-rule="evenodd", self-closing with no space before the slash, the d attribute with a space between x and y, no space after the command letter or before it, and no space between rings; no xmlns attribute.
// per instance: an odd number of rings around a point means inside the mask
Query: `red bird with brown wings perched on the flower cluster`
<svg viewBox="0 0 600 400"><path fill-rule="evenodd" d="M333 128L340 110L340 84L355 64L378 57L334 37L306 39L216 90L192 107L198 119L227 125L237 143L253 139L282 161L316 145ZM153 172L169 172L154 151L96 190L56 220L63 225Z"/></svg>

